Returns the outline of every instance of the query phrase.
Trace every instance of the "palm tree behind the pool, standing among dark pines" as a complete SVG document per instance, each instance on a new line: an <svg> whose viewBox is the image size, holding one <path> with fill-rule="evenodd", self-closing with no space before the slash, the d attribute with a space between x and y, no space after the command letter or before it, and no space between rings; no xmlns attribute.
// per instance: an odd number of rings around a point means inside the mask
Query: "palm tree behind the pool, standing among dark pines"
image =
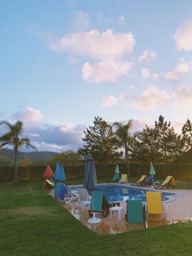
<svg viewBox="0 0 192 256"><path fill-rule="evenodd" d="M132 119L128 120L128 122L125 125L122 125L119 122L115 122L113 126L116 128L115 136L116 136L116 143L119 148L124 148L125 150L125 157L126 157L126 163L127 163L127 172L128 177L130 177L130 170L129 170L129 146L132 143L132 141L135 139L135 137L138 135L137 132L135 132L133 135L130 134L131 128L132 128Z"/></svg>

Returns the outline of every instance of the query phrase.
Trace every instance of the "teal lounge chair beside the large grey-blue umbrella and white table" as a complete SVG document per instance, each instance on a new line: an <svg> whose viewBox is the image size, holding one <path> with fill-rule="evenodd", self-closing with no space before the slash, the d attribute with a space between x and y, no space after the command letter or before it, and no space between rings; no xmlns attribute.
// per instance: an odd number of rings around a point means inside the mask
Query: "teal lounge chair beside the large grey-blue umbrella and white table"
<svg viewBox="0 0 192 256"><path fill-rule="evenodd" d="M94 202L94 203L93 203ZM103 218L109 214L109 208L115 206L114 203L110 204L102 191L94 191L90 203L89 215L92 217L92 212L100 212Z"/></svg>

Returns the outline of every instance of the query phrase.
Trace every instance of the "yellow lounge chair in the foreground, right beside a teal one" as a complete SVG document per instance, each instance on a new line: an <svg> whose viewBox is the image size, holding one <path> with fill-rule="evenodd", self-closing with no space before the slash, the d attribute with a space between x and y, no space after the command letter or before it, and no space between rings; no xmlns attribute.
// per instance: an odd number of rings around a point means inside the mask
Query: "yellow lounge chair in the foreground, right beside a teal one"
<svg viewBox="0 0 192 256"><path fill-rule="evenodd" d="M161 192L146 192L147 205L146 214L148 219L148 214L161 214L165 215L164 204L162 203L162 193Z"/></svg>

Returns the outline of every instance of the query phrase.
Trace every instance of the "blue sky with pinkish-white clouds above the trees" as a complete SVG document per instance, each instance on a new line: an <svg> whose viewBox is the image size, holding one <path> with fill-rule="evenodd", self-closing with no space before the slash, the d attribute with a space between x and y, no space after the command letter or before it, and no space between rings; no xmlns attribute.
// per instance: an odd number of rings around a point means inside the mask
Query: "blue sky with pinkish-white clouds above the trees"
<svg viewBox="0 0 192 256"><path fill-rule="evenodd" d="M136 131L163 115L181 133L192 1L0 0L0 89L0 120L39 151L76 151L95 116Z"/></svg>

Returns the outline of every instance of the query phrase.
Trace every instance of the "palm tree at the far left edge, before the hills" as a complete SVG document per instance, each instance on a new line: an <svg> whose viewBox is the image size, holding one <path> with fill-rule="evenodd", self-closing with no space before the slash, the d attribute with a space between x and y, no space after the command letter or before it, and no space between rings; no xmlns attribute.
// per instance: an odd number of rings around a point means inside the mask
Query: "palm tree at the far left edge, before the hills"
<svg viewBox="0 0 192 256"><path fill-rule="evenodd" d="M13 153L11 156L11 163L14 158L14 181L13 183L17 183L17 164L18 164L18 156L19 150L23 145L26 148L32 147L37 149L31 145L30 139L28 137L22 137L23 132L23 122L17 121L14 125L10 124L8 121L0 121L0 125L4 125L7 128L7 132L0 136L0 149L3 148L1 154L9 147L13 147ZM5 148L4 148L5 147Z"/></svg>

